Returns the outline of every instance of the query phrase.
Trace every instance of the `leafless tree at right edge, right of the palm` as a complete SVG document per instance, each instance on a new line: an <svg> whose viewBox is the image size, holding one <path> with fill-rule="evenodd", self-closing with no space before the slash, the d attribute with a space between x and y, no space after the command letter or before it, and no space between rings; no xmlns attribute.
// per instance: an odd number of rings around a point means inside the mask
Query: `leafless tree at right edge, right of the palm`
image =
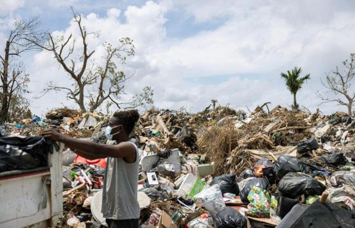
<svg viewBox="0 0 355 228"><path fill-rule="evenodd" d="M348 115L351 118L351 109L355 100L355 91L351 88L351 82L355 72L355 54L350 54L350 60L342 62L344 67L340 71L338 66L330 73L326 73L326 80L322 80L322 85L327 88L325 92L317 91L317 97L322 99L322 103L337 102L338 105L347 107ZM328 96L333 94L334 96Z"/></svg>

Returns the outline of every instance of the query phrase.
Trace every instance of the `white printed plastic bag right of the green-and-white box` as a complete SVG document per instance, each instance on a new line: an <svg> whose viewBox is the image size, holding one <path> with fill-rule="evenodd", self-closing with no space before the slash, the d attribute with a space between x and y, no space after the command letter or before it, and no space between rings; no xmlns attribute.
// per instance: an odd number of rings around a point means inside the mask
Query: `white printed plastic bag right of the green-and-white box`
<svg viewBox="0 0 355 228"><path fill-rule="evenodd" d="M195 196L196 205L203 206L212 217L216 217L217 213L226 207L223 201L220 185L215 184Z"/></svg>

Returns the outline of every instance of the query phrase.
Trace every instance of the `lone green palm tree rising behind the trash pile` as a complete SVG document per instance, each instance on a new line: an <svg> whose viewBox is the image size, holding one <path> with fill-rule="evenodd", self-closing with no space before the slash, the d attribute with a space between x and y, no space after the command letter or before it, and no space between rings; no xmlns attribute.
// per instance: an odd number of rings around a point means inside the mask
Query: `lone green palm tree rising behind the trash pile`
<svg viewBox="0 0 355 228"><path fill-rule="evenodd" d="M302 88L303 83L310 79L309 73L306 74L304 77L300 78L300 74L302 72L301 67L295 66L292 71L288 70L287 74L281 72L281 78L283 78L286 82L287 88L290 90L291 94L293 95L293 105L294 109L298 108L298 104L296 102L296 94Z"/></svg>

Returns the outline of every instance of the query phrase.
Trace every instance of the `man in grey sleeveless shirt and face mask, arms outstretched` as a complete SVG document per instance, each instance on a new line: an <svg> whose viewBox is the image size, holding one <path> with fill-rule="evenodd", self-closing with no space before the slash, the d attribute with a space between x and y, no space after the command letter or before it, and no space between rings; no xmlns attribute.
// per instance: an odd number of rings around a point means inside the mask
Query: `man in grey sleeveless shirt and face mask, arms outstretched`
<svg viewBox="0 0 355 228"><path fill-rule="evenodd" d="M139 156L137 146L129 141L129 134L139 119L137 110L118 111L106 129L107 144L75 139L51 128L43 137L63 142L86 159L107 158L102 192L103 217L111 227L138 227L139 204L137 183Z"/></svg>

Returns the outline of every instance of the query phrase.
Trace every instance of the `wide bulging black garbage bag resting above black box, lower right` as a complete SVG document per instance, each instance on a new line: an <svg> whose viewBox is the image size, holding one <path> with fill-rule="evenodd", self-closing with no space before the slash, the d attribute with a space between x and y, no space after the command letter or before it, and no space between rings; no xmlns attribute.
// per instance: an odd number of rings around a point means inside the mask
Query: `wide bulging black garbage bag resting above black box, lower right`
<svg viewBox="0 0 355 228"><path fill-rule="evenodd" d="M304 173L288 173L278 183L278 191L282 196L290 198L296 198L302 194L322 195L325 189L324 184Z"/></svg>

